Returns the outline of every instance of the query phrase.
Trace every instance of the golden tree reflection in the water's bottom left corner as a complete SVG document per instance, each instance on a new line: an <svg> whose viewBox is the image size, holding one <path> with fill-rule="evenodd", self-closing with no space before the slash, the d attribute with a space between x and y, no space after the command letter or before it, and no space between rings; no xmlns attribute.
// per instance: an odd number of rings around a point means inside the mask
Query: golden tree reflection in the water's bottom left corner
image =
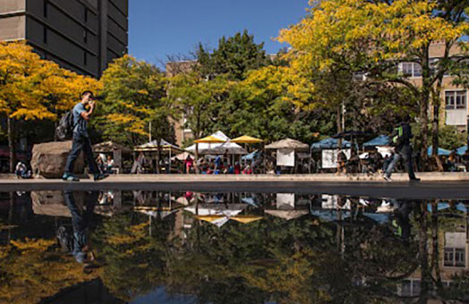
<svg viewBox="0 0 469 304"><path fill-rule="evenodd" d="M55 240L11 241L0 247L0 302L37 303L41 298L98 277L84 274L74 258L54 248Z"/></svg>

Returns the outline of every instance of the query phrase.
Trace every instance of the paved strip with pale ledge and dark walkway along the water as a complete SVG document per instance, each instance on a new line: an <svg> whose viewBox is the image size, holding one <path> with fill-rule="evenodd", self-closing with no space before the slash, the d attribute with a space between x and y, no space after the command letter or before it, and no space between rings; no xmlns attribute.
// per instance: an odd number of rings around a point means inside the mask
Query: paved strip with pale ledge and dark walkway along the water
<svg viewBox="0 0 469 304"><path fill-rule="evenodd" d="M421 177L424 177L422 173ZM465 176L464 176L465 177ZM343 194L354 196L386 198L467 198L469 199L469 179L457 180L451 177L446 181L432 182L422 178L422 182L382 182L337 178L322 181L316 176L200 176L200 175L121 175L105 181L62 182L60 180L0 180L0 191L16 190L172 190L209 192L287 192L311 194ZM405 176L396 175L396 180Z"/></svg>

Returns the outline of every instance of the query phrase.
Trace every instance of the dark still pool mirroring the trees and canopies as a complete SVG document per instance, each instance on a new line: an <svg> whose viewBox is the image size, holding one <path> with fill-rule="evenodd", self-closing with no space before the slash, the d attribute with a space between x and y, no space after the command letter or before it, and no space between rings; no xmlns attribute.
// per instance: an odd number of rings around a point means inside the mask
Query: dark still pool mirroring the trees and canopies
<svg viewBox="0 0 469 304"><path fill-rule="evenodd" d="M469 200L0 193L0 303L467 303Z"/></svg>

